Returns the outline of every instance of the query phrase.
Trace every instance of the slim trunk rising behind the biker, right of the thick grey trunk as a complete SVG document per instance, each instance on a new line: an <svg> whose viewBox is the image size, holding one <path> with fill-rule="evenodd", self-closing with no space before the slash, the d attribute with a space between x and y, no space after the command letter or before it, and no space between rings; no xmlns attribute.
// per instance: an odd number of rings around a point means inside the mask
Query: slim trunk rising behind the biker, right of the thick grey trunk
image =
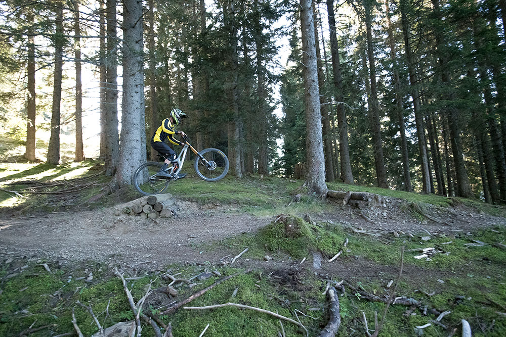
<svg viewBox="0 0 506 337"><path fill-rule="evenodd" d="M154 134L156 127L158 126L159 117L158 117L158 97L156 92L156 55L155 55L155 29L154 29L154 13L153 9L155 3L153 0L149 0L148 2L149 11L148 11L148 21L149 21L149 29L148 29L148 50L149 50L149 136ZM156 151L150 149L150 159L151 161L157 161Z"/></svg>

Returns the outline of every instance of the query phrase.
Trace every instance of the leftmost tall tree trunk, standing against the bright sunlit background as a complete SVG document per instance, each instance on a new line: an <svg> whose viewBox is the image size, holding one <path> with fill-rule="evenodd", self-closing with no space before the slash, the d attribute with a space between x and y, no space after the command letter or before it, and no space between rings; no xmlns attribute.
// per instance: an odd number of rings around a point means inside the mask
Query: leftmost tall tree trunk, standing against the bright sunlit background
<svg viewBox="0 0 506 337"><path fill-rule="evenodd" d="M28 16L27 21L31 22L33 16ZM33 36L28 36L28 62L26 66L28 79L28 98L26 111L28 122L26 125L26 152L24 157L29 161L35 161L35 41Z"/></svg>

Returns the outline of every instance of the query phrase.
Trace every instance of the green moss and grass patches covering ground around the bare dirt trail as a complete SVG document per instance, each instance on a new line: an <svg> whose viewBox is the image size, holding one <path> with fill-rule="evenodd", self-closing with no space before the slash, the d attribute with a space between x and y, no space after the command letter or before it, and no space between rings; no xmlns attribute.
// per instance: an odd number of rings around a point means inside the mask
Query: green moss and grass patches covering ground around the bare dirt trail
<svg viewBox="0 0 506 337"><path fill-rule="evenodd" d="M106 184L107 177L95 175L101 167L94 161L51 166L33 163L6 163L0 168L0 187L22 191L27 188L26 181L35 180L47 185L63 182L58 186L47 186L46 190L70 188L72 185L97 181ZM254 215L314 214L328 211L329 206L304 194L301 181L294 182L275 177L251 176L241 180L230 177L216 183L207 183L196 178L176 181L170 191L178 197L201 204L216 203L230 205L231 209ZM87 204L105 185L83 189L73 195L73 202L85 207L105 207L107 203ZM448 199L439 196L423 196L406 192L379 189L374 187L350 186L339 183L329 184L338 190L361 190L402 198L408 203L431 204L451 207L462 204L473 210L494 215L503 215L504 209L486 205L480 201ZM299 203L291 203L298 193L303 197ZM28 198L13 197L11 192L0 191L0 203L5 209L17 205L19 210L52 212L72 209L68 198L55 198L52 195L26 195ZM123 200L134 199L132 190L121 192ZM108 202L114 202L108 201ZM65 204L67 203L67 204ZM84 204L83 204L84 203ZM290 205L289 205L290 204ZM104 206L105 205L105 206ZM289 205L289 206L288 206ZM2 211L2 210L0 210ZM459 329L460 319L471 323L474 336L506 335L506 229L503 226L482 228L472 232L451 231L432 236L424 241L421 236L414 237L400 233L399 237L384 234L380 237L360 235L347 226L332 223L307 223L299 218L300 233L289 238L284 234L282 223L272 223L256 233L241 234L209 244L202 249L229 249L238 254L243 248L249 251L241 260L250 259L253 270L225 281L202 297L191 302L192 306L214 305L235 302L278 312L290 318L298 313L301 322L308 328L309 335L317 335L328 319L327 304L322 295L327 282L346 279L355 287L380 297L388 296L392 287L390 280L397 278L401 262L401 249L404 247L404 269L397 288L397 296L412 297L428 308L451 313L442 319L447 328L432 323L423 329L427 336L447 336L453 329ZM1 232L0 232L1 234ZM342 255L333 263L330 257L342 249L346 239L349 243ZM482 244L483 243L483 244ZM498 245L499 244L499 245ZM225 247L224 247L225 246ZM441 252L429 259L415 259L421 254L410 251L434 247ZM322 253L322 269L312 269L312 253ZM263 262L265 255L271 256L272 263ZM9 261L13 257L12 261ZM300 261L307 262L300 265ZM126 301L121 283L112 274L114 265L98 262L75 265L59 265L56 261L29 260L27 257L6 255L0 257L0 336L18 336L32 327L45 327L29 333L31 336L54 336L72 333L72 308L77 322L85 335L97 331L90 314L77 305L76 301L91 305L104 326L130 320L133 314ZM241 261L240 260L240 261ZM284 261L284 262L281 262ZM52 273L46 271L41 263L46 262ZM276 264L274 264L276 262ZM237 268L226 266L173 265L163 266L163 271L181 273L179 277L191 278L204 270L218 271L230 275L245 271L241 262ZM235 266L235 265L234 265ZM139 300L145 286L153 281L153 288L168 282L160 277L160 271L151 270L136 273L132 267L126 268L133 296ZM93 279L87 281L90 273ZM140 278L139 278L140 277ZM193 280L195 285L177 286L180 295L169 298L156 293L148 298L144 310L159 314L170 303L185 299L205 286L214 283L219 276L205 281ZM233 297L237 289L236 296ZM427 294L427 295L425 295ZM373 326L374 312L381 318L385 304L364 300L359 293L346 288L346 295L340 297L342 325L340 336L364 335L362 311ZM304 316L299 311L312 316ZM392 305L386 316L381 336L413 336L416 326L434 320L434 315L424 315L415 309ZM174 314L161 315L165 322L171 322L175 336L196 336L209 324L205 335L209 336L275 336L281 331L279 321L273 317L254 311L235 308L220 308L206 311L187 311L180 309ZM289 322L283 322L287 336L304 335L303 331ZM372 331L371 331L372 332ZM419 332L418 332L419 333ZM457 333L460 333L457 330ZM149 326L143 329L143 336L152 336Z"/></svg>

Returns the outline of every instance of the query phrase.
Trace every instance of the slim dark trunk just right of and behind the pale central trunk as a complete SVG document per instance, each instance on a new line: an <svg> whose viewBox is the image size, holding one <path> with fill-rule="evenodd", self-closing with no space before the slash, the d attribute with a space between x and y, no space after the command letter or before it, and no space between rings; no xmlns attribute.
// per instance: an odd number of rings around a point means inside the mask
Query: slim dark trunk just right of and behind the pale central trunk
<svg viewBox="0 0 506 337"><path fill-rule="evenodd" d="M314 0L313 0L313 8ZM316 9L315 9L316 11ZM316 18L316 12L314 17ZM334 167L332 162L332 136L330 133L330 109L328 99L325 93L325 78L323 75L323 66L321 62L321 53L320 53L320 39L318 37L318 24L317 20L313 20L314 31L315 31L315 46L316 46L316 66L318 68L318 87L320 91L320 110L322 116L322 124L323 124L323 154L325 157L325 177L327 181L334 181Z"/></svg>

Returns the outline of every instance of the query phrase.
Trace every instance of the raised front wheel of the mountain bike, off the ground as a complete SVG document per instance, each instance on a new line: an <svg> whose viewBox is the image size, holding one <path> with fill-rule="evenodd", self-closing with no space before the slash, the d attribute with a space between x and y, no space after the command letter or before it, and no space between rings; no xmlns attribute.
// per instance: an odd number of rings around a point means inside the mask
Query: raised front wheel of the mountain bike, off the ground
<svg viewBox="0 0 506 337"><path fill-rule="evenodd" d="M205 181L218 181L223 178L229 168L227 156L218 149L205 149L199 152L205 160L199 156L195 158L195 172Z"/></svg>

